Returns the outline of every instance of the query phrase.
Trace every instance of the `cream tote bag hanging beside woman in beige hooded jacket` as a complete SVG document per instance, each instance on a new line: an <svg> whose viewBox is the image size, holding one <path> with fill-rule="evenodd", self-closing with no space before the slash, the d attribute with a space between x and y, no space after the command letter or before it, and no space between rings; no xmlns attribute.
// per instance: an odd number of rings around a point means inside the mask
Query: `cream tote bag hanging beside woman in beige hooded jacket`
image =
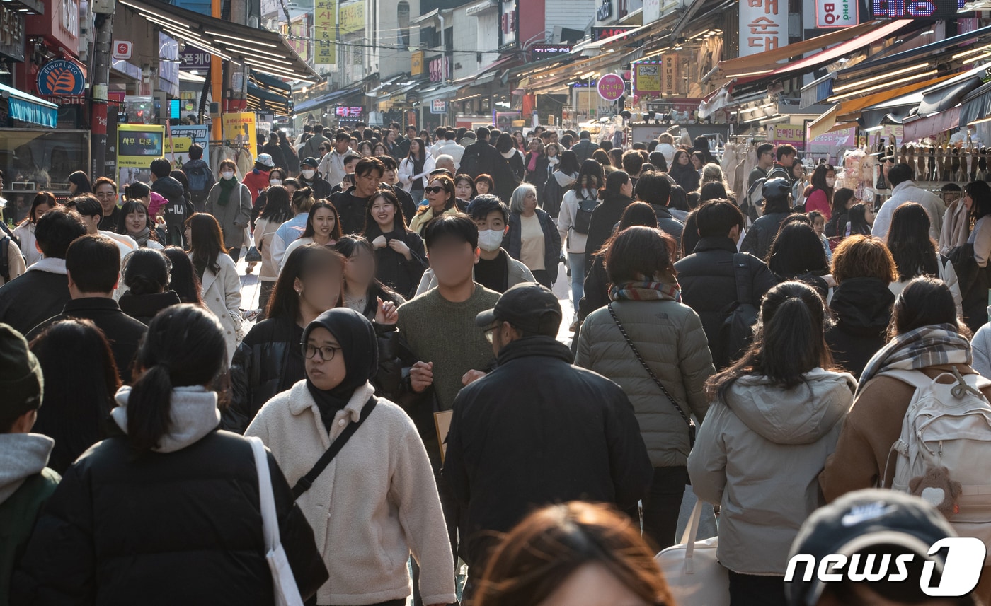
<svg viewBox="0 0 991 606"><path fill-rule="evenodd" d="M654 557L679 606L729 606L729 573L716 561L717 538L696 541L705 505L696 502L681 544Z"/></svg>

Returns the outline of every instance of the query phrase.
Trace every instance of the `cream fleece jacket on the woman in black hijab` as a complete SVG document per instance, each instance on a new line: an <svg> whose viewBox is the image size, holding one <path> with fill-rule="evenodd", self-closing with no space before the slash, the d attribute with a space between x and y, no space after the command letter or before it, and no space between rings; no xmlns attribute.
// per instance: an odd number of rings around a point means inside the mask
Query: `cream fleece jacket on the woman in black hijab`
<svg viewBox="0 0 991 606"><path fill-rule="evenodd" d="M328 436L306 381L299 381L262 407L245 436L262 439L292 486L348 423L358 421L373 391L369 383L356 389ZM456 600L454 558L430 460L412 420L392 402L379 398L296 502L330 572L317 604L361 606L408 596L410 553L420 564L423 603Z"/></svg>

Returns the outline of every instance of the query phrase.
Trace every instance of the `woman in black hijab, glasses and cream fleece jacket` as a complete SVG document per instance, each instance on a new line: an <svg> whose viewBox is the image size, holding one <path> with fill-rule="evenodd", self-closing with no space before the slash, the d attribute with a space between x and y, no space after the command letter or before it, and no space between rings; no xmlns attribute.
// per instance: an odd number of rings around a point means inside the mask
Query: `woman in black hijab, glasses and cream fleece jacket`
<svg viewBox="0 0 991 606"><path fill-rule="evenodd" d="M410 555L423 603L454 602L430 461L409 417L370 382L379 368L372 323L352 309L326 311L306 326L300 350L305 380L270 400L246 435L261 438L296 483L350 423L363 426L297 500L331 571L315 603L404 601Z"/></svg>

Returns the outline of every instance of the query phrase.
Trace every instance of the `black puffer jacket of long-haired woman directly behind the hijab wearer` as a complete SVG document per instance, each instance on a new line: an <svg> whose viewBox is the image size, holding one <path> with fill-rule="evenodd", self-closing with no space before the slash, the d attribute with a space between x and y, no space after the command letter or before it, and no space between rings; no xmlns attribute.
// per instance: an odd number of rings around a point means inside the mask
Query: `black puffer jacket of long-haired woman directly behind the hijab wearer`
<svg viewBox="0 0 991 606"><path fill-rule="evenodd" d="M276 393L285 391L302 373L286 371L289 351L298 348L293 339L291 320L270 318L255 325L234 352L231 361L230 405L223 412L221 427L243 434L259 409ZM394 327L375 325L379 337L379 373L372 380L376 394L394 400L402 382L402 362L398 359L398 333Z"/></svg>

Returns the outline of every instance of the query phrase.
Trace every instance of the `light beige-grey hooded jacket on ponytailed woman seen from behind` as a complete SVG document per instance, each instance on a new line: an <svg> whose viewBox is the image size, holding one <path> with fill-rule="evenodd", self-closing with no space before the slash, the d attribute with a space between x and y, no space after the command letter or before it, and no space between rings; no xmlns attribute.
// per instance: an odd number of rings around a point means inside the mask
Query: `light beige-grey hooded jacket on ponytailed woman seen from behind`
<svg viewBox="0 0 991 606"><path fill-rule="evenodd" d="M688 471L699 498L721 508L723 566L784 575L802 523L825 504L819 473L855 389L853 376L822 368L788 390L744 375L710 407Z"/></svg>

